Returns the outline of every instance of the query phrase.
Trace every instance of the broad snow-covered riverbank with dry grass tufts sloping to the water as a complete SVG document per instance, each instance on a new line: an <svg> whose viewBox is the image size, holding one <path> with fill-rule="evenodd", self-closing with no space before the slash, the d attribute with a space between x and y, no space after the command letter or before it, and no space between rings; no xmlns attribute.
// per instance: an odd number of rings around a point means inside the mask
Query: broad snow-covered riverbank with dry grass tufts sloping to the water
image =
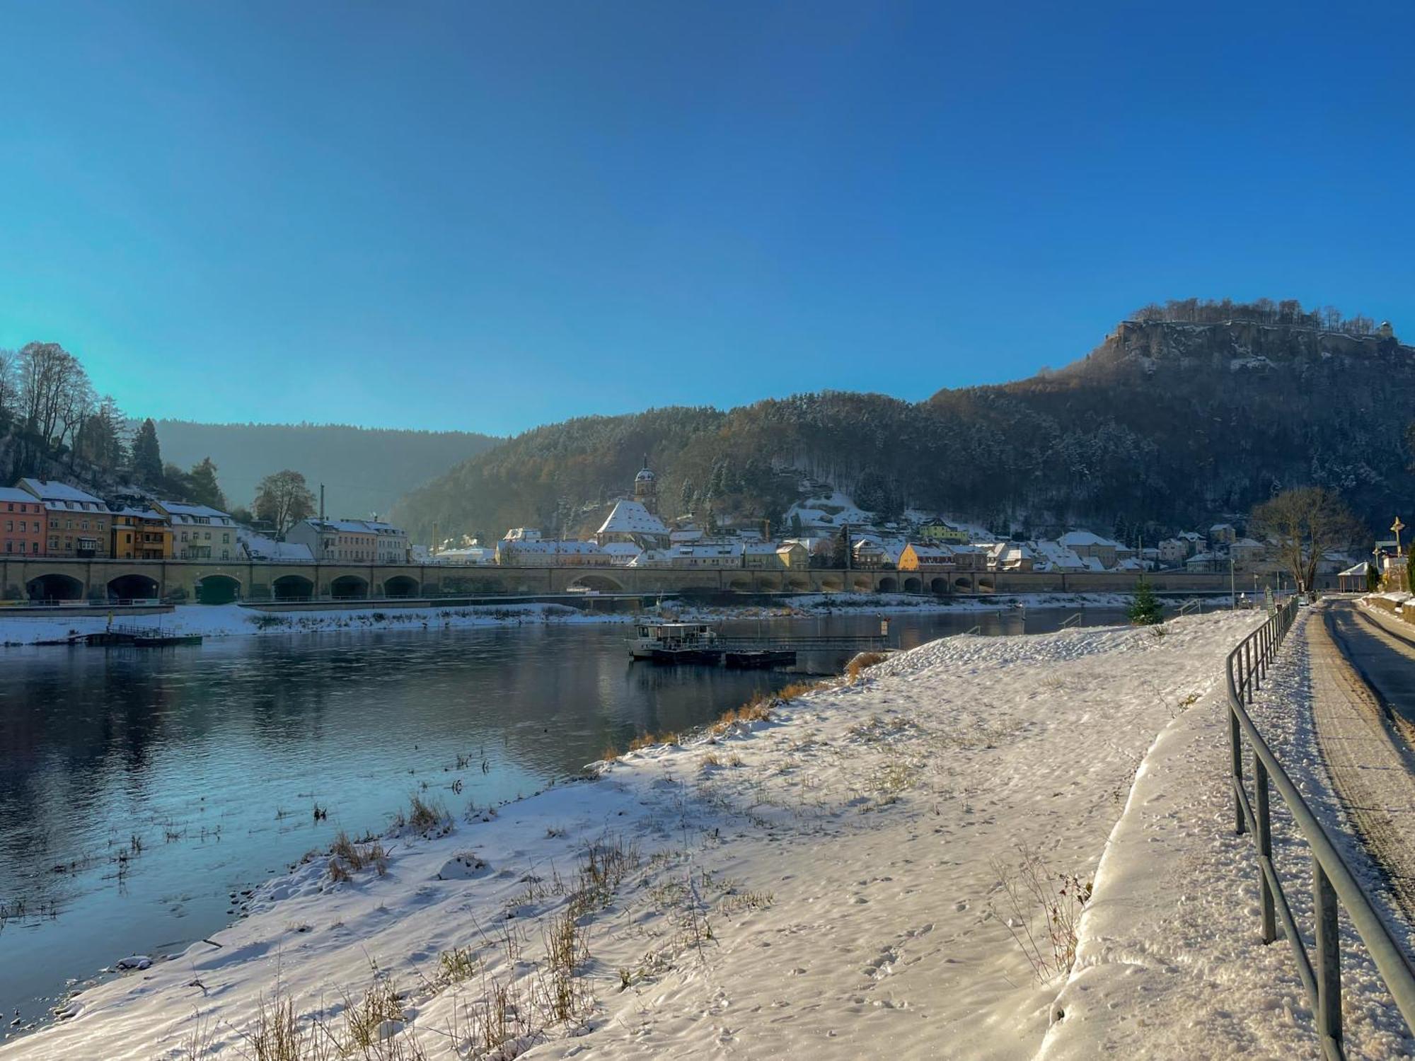
<svg viewBox="0 0 1415 1061"><path fill-rule="evenodd" d="M262 997L347 1036L350 1013L369 1013L365 992L389 986L400 1002L374 1006L365 1038L392 1051L415 1037L434 1058L1016 1058L1044 1038L1058 1055L1095 1057L1112 1036L1143 1044L1139 1020L1155 1014L1126 1009L1133 999L1088 1009L1101 992L1087 972L1102 937L1176 908L1203 914L1241 890L1237 877L1251 880L1217 809L1166 825L1173 850L1155 846L1163 876L1131 854L1107 860L1087 968L1060 1003L1061 979L1034 976L1016 942L1029 929L1044 941L1043 918L1012 910L1000 879L1016 881L1036 859L1049 874L1092 879L1155 734L1176 714L1189 726L1213 713L1211 700L1183 706L1210 693L1254 622L1238 613L1176 620L1163 634L947 638L799 695L767 721L640 750L596 781L497 811L457 808L450 829L426 837L403 829L382 840L382 876L335 883L328 859L313 856L263 886L214 942L151 955L150 968L76 996L65 1020L0 1045L0 1058L188 1057L194 1033L202 1055L253 1055L245 1036ZM1190 806L1183 787L1204 789L1197 775L1217 777L1224 761L1190 754L1194 777L1174 774L1179 789L1155 791L1146 768L1131 811ZM1187 763L1162 761L1155 778ZM1145 819L1116 837L1135 828ZM1189 880L1213 852L1228 857L1227 876ZM1139 898L1126 900L1132 890ZM1214 937L1186 939L1174 980L1208 968ZM550 959L566 945L573 979ZM1241 1020L1255 1054L1276 1055L1302 1043L1303 1016L1283 1009L1278 951L1262 956L1228 973L1279 983L1271 1006ZM498 995L511 1041L468 1054ZM1183 997L1156 1057L1213 1045L1215 999Z"/></svg>

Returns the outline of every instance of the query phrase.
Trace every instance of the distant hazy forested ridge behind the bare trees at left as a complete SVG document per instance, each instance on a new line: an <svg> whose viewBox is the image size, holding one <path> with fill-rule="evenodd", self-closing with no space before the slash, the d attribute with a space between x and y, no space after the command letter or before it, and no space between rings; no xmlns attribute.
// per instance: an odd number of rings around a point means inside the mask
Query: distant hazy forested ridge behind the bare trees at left
<svg viewBox="0 0 1415 1061"><path fill-rule="evenodd" d="M499 440L468 431L405 431L348 424L190 423L158 420L164 461L216 464L231 505L249 505L256 484L294 468L310 487L327 487L331 515L386 514L408 491L484 453Z"/></svg>

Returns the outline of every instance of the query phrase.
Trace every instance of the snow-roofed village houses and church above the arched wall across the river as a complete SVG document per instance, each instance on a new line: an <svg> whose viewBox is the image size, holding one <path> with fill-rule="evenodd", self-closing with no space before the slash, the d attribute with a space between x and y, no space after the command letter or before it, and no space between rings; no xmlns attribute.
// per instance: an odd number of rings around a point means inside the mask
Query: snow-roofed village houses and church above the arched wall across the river
<svg viewBox="0 0 1415 1061"><path fill-rule="evenodd" d="M812 495L785 514L788 536L768 538L766 525L750 519L705 529L691 516L669 522L659 515L658 480L645 460L633 492L614 501L586 540L550 539L522 526L507 530L495 545L464 538L460 546L427 550L410 546L405 530L376 518L310 518L276 540L205 505L133 495L105 502L65 482L23 478L0 488L0 550L74 559L785 570L839 564L838 550L848 540L850 566L901 572L1138 576L1146 570L1255 574L1278 569L1269 546L1242 536L1230 522L1204 533L1183 530L1143 550L1087 529L1016 540L1020 536L966 528L928 512L911 511L897 523L876 525L845 494L825 484L807 485ZM708 526L715 526L710 518ZM1323 557L1320 570L1348 564L1348 557L1333 555Z"/></svg>

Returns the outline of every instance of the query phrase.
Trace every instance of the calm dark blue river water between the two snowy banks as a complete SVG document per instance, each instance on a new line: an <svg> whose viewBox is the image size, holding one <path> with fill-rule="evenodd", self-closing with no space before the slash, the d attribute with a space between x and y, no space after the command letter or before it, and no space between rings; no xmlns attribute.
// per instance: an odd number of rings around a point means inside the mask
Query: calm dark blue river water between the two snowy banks
<svg viewBox="0 0 1415 1061"><path fill-rule="evenodd" d="M1044 632L1065 615L891 615L890 641L910 648L974 625ZM1124 617L1087 608L1082 621ZM874 632L879 617L722 628ZM4 649L0 1037L67 983L219 929L241 893L340 829L382 829L415 791L453 812L528 795L642 730L689 730L794 680L631 663L627 634L528 624ZM316 804L327 821L314 821Z"/></svg>

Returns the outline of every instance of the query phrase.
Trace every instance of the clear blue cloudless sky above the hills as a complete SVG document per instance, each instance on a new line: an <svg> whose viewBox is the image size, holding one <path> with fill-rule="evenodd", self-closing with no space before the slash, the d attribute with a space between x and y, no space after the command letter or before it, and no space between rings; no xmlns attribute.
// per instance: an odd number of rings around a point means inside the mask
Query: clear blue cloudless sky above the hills
<svg viewBox="0 0 1415 1061"><path fill-rule="evenodd" d="M509 433L921 399L1166 297L1415 337L1415 7L1358 7L0 0L0 345Z"/></svg>

